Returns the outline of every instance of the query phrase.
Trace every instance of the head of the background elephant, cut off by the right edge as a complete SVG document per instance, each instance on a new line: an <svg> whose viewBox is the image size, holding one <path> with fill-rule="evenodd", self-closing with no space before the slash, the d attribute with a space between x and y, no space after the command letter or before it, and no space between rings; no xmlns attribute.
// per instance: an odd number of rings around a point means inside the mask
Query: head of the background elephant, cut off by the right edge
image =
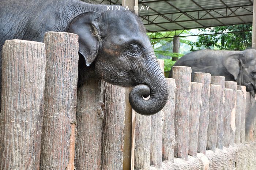
<svg viewBox="0 0 256 170"><path fill-rule="evenodd" d="M237 85L246 86L253 97L256 90L256 50L248 49L224 59L223 65L234 76Z"/></svg>

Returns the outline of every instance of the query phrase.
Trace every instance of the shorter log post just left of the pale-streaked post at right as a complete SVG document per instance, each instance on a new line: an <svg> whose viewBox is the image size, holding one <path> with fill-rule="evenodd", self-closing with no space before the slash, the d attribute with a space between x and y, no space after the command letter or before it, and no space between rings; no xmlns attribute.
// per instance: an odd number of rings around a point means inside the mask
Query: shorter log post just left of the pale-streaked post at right
<svg viewBox="0 0 256 170"><path fill-rule="evenodd" d="M223 146L229 147L230 144L230 122L233 109L233 90L225 88L225 105L223 115Z"/></svg>

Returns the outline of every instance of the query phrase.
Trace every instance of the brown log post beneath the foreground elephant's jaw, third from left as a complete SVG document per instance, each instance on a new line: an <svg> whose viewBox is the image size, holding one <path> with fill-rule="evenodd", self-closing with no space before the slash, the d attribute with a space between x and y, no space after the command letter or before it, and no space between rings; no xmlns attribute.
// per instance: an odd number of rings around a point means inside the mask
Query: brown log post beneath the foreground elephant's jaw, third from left
<svg viewBox="0 0 256 170"><path fill-rule="evenodd" d="M90 79L78 88L75 166L77 170L101 170L101 128L104 118L103 90Z"/></svg>

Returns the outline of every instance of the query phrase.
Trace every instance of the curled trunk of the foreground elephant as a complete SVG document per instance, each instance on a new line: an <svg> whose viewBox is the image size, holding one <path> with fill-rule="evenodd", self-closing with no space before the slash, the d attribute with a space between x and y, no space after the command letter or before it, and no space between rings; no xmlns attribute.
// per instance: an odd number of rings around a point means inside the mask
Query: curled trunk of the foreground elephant
<svg viewBox="0 0 256 170"><path fill-rule="evenodd" d="M129 102L132 109L146 116L162 110L168 99L167 81L159 66L152 80L151 82L154 83L149 84L149 86L139 84L133 87L129 94ZM143 99L143 97L148 97L149 95L149 99Z"/></svg>

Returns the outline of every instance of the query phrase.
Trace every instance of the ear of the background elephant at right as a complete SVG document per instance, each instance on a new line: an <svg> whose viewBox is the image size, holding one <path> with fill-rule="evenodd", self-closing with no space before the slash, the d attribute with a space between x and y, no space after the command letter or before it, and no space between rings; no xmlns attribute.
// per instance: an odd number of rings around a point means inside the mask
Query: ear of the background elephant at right
<svg viewBox="0 0 256 170"><path fill-rule="evenodd" d="M234 76L234 79L237 79L237 76L240 72L240 65L242 65L244 55L242 53L232 54L227 56L223 60L223 65L227 71Z"/></svg>

